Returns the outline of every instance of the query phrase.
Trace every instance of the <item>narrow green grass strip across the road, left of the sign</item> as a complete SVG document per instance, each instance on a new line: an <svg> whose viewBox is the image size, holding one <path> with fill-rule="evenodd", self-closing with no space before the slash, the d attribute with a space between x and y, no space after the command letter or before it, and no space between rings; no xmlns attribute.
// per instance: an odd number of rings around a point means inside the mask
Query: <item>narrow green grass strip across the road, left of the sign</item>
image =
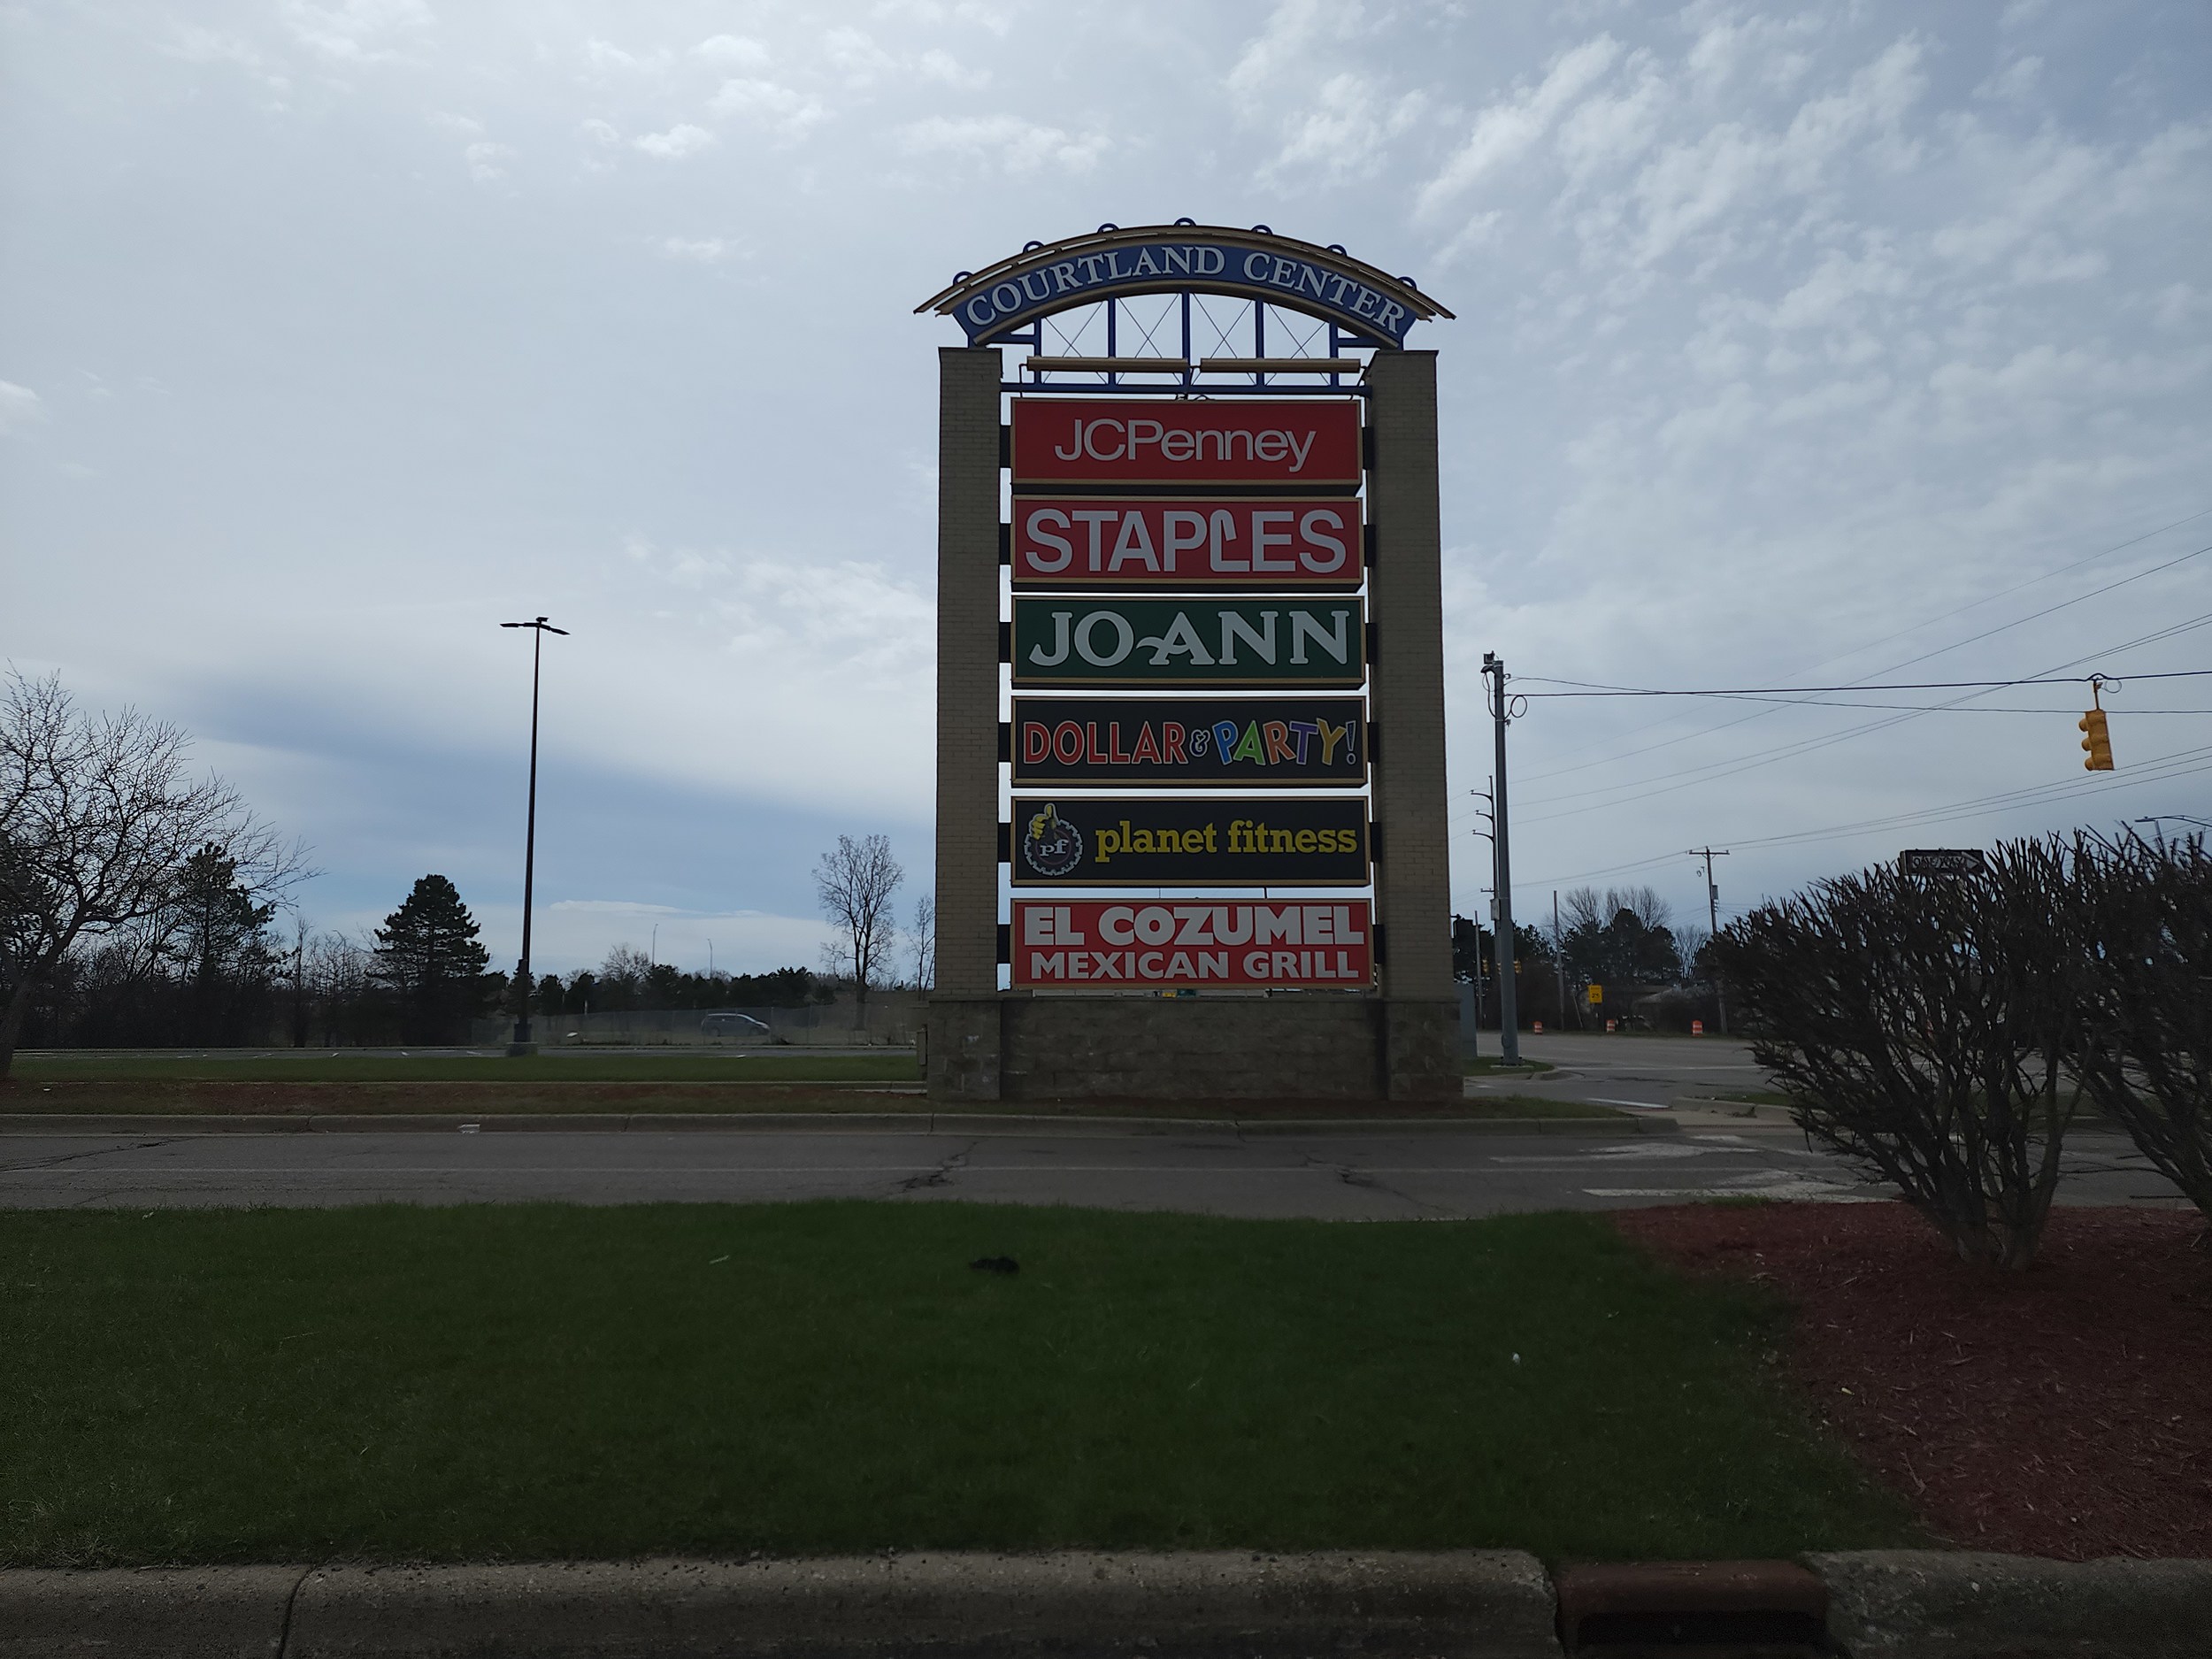
<svg viewBox="0 0 2212 1659"><path fill-rule="evenodd" d="M46 1082L226 1082L226 1084L911 1084L920 1066L911 1048L880 1055L810 1055L805 1048L759 1053L635 1055L349 1055L330 1048L274 1053L173 1055L20 1055L15 1079Z"/></svg>

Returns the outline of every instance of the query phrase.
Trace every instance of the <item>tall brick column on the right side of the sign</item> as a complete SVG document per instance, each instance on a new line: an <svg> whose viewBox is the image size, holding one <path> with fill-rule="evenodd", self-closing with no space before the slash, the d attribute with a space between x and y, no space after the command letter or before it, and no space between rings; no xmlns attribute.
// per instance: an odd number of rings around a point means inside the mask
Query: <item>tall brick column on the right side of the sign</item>
<svg viewBox="0 0 2212 1659"><path fill-rule="evenodd" d="M1367 365L1376 562L1374 816L1383 830L1383 1073L1391 1099L1460 1093L1451 978L1451 841L1444 821L1444 595L1436 482L1436 352L1376 352ZM940 900L942 902L942 900Z"/></svg>

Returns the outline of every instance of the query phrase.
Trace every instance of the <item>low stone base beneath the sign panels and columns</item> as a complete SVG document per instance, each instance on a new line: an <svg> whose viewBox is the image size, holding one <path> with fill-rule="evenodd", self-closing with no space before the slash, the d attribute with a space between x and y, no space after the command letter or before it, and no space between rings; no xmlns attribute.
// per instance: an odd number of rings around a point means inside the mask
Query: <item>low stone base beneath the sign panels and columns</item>
<svg viewBox="0 0 2212 1659"><path fill-rule="evenodd" d="M929 1000L933 1099L1455 1099L1458 1004L1385 998Z"/></svg>

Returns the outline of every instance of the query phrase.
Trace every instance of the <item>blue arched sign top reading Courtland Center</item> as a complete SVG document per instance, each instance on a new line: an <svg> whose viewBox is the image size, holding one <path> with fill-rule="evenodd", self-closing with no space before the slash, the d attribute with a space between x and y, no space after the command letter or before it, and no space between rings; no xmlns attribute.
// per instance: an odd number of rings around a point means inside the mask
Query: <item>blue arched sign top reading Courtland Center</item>
<svg viewBox="0 0 2212 1659"><path fill-rule="evenodd" d="M1334 323L1371 345L1400 347L1413 323L1449 319L1442 305L1338 248L1272 230L1225 226L1102 228L1031 243L989 270L962 272L916 305L951 316L969 345L989 345L1040 316L1130 294L1232 294Z"/></svg>

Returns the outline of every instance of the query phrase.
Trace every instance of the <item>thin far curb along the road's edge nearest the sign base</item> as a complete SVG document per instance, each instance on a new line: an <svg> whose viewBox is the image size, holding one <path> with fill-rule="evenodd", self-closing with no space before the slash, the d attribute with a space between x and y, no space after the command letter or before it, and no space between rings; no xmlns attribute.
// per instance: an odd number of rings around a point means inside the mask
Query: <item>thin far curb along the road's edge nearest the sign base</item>
<svg viewBox="0 0 2212 1659"><path fill-rule="evenodd" d="M7 1113L0 1135L1679 1135L1663 1117L1075 1117L1022 1113Z"/></svg>

